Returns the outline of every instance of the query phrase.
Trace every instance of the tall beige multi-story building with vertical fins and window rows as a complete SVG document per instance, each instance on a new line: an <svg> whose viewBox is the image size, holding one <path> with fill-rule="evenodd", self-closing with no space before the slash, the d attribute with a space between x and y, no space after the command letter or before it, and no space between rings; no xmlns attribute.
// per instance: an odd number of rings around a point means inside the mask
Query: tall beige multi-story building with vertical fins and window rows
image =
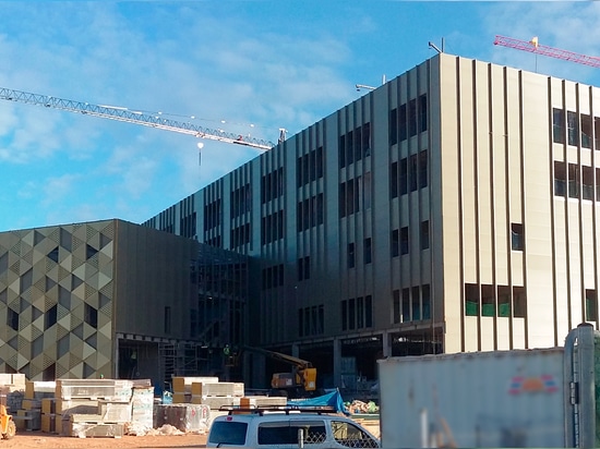
<svg viewBox="0 0 600 449"><path fill-rule="evenodd" d="M252 344L325 381L598 327L600 89L437 54L144 225L253 256Z"/></svg>

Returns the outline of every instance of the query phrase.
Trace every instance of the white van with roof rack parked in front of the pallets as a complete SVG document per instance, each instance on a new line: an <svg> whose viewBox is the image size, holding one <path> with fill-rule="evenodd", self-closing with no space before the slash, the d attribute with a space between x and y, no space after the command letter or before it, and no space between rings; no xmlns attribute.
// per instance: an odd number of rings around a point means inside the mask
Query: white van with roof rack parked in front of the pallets
<svg viewBox="0 0 600 449"><path fill-rule="evenodd" d="M207 448L379 448L352 420L323 408L231 409L211 425Z"/></svg>

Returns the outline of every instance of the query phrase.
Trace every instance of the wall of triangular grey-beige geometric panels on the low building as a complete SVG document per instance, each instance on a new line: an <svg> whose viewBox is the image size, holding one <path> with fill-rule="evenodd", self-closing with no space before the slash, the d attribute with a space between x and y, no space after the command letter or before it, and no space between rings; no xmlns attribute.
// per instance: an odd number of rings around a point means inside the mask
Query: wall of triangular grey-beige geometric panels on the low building
<svg viewBox="0 0 600 449"><path fill-rule="evenodd" d="M0 373L111 375L115 220L0 232Z"/></svg>

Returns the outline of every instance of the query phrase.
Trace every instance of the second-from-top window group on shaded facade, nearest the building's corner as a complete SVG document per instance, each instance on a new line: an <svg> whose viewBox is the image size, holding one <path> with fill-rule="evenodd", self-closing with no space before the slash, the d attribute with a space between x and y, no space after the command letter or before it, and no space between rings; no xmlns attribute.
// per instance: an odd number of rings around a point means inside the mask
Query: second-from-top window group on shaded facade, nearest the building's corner
<svg viewBox="0 0 600 449"><path fill-rule="evenodd" d="M429 173L428 150L423 149L417 155L410 155L397 162L392 162L389 168L389 196L397 198L409 191L415 192L428 186Z"/></svg>

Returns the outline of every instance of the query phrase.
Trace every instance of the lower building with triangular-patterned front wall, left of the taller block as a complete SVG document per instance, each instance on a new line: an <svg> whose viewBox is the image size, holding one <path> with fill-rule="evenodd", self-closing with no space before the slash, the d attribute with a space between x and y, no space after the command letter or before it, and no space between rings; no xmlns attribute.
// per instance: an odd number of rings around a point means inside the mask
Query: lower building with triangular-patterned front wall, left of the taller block
<svg viewBox="0 0 600 449"><path fill-rule="evenodd" d="M248 279L245 256L122 220L0 232L0 372L227 376Z"/></svg>

